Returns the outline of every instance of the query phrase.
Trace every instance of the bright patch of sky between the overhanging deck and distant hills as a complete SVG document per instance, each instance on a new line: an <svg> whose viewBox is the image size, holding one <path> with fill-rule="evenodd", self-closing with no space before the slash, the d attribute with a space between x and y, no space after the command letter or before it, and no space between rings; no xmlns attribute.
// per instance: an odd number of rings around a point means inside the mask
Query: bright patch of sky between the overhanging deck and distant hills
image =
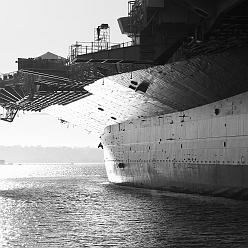
<svg viewBox="0 0 248 248"><path fill-rule="evenodd" d="M97 147L98 142L98 136L45 114L20 112L13 122L0 122L0 145Z"/></svg>

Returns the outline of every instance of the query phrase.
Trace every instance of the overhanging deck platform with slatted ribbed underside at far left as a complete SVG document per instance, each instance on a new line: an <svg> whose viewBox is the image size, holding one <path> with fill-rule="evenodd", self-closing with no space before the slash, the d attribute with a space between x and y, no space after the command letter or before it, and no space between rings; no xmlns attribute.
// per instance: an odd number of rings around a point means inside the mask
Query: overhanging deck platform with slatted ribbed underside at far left
<svg viewBox="0 0 248 248"><path fill-rule="evenodd" d="M90 93L84 83L40 72L19 70L0 78L1 120L11 122L17 111L41 111L51 105L67 105Z"/></svg>

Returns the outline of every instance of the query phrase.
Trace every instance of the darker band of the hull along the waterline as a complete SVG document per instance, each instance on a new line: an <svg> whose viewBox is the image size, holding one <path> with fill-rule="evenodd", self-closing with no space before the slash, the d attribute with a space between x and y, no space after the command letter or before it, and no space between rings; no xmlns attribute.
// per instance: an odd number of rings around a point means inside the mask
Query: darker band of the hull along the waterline
<svg viewBox="0 0 248 248"><path fill-rule="evenodd" d="M145 170L140 164L130 166L136 168L137 176L120 173L123 182L113 183L122 186L248 200L247 166L158 164L158 167L164 168L167 175L158 174L153 169L153 165Z"/></svg>

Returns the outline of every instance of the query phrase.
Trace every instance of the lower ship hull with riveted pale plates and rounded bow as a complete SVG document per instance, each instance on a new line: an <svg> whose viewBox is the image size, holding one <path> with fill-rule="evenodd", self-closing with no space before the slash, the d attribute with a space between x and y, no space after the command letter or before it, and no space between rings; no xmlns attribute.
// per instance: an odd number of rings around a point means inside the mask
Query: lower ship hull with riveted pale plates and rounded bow
<svg viewBox="0 0 248 248"><path fill-rule="evenodd" d="M109 181L248 199L248 93L202 107L109 126Z"/></svg>

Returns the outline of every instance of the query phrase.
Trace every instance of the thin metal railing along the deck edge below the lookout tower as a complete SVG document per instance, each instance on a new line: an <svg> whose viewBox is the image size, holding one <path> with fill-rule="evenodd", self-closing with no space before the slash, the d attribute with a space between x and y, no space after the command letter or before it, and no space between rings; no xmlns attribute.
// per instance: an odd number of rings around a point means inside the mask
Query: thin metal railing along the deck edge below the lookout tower
<svg viewBox="0 0 248 248"><path fill-rule="evenodd" d="M133 41L123 43L76 42L70 46L68 59L72 62L77 56L96 53L104 50L130 47L136 45Z"/></svg>

